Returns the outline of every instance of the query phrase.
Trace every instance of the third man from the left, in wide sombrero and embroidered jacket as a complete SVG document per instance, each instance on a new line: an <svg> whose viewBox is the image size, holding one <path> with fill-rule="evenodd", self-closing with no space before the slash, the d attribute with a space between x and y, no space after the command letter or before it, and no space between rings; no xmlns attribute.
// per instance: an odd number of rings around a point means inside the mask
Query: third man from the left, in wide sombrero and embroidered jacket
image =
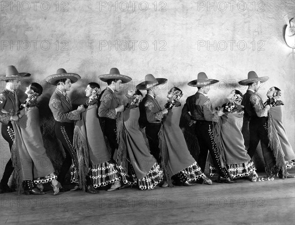
<svg viewBox="0 0 295 225"><path fill-rule="evenodd" d="M119 104L116 97L116 92L119 91L121 84L130 82L132 79L128 76L120 74L117 68L112 68L109 74L99 75L98 78L108 84L107 88L103 91L100 98L100 106L98 108L98 116L105 119L105 135L108 138L111 147L111 159L114 159L115 150L118 149L117 142L117 120L116 116L118 112L124 111L124 106ZM121 180L124 183L122 185L120 181L115 182L108 191L114 191L118 188L126 188L133 184L132 176L129 174L123 174L126 168L122 168L118 165L117 169L121 174Z"/></svg>

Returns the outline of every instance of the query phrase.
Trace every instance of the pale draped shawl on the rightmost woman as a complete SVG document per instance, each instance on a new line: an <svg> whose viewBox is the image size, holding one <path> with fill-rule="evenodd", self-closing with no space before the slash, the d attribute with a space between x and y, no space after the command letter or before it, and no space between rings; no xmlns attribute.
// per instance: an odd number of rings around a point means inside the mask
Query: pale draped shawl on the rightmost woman
<svg viewBox="0 0 295 225"><path fill-rule="evenodd" d="M286 176L287 169L286 169L285 158L284 158L285 153L282 149L281 141L282 143L285 143L286 140L288 141L288 138L282 123L282 118L283 118L282 109L283 109L282 106L276 106L276 107L271 107L270 110L268 111L268 121L267 121L268 134L267 135L269 140L269 147L271 148L271 151L276 160L276 166L279 169L281 169L283 171L283 175ZM285 146L285 144L283 146Z"/></svg>

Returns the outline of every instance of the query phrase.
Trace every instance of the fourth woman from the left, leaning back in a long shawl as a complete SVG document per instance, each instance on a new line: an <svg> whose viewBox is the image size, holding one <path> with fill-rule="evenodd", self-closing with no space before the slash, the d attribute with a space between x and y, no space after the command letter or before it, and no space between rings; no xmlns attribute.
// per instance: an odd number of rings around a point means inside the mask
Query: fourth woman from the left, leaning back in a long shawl
<svg viewBox="0 0 295 225"><path fill-rule="evenodd" d="M173 186L172 176L176 183L184 186L191 186L200 178L203 184L211 185L212 181L202 172L201 168L189 153L183 133L179 127L179 120L182 107L179 99L182 91L173 87L168 92L169 99L165 105L168 114L164 115L163 127L159 132L161 146L161 166L164 169L165 179L162 187Z"/></svg>

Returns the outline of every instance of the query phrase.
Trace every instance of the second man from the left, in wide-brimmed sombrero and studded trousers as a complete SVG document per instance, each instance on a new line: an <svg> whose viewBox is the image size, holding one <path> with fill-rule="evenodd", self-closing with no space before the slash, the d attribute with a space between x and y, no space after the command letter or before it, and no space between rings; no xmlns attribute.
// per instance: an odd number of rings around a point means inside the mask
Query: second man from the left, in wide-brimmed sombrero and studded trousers
<svg viewBox="0 0 295 225"><path fill-rule="evenodd" d="M62 143L65 151L65 159L60 168L58 176L58 188L65 191L61 184L64 183L64 178L74 162L75 169L79 170L78 156L76 149L73 147L74 136L74 121L80 119L80 112L84 112L85 108L80 105L77 110L73 110L72 103L67 96L67 91L71 89L71 85L80 80L81 77L75 73L67 73L64 69L58 69L56 74L46 78L49 84L57 86L55 92L50 98L49 108L53 113L55 123L55 133L59 141ZM75 181L73 181L75 182ZM87 192L96 193L91 184L91 180L87 180ZM82 187L76 185L71 191L81 190Z"/></svg>

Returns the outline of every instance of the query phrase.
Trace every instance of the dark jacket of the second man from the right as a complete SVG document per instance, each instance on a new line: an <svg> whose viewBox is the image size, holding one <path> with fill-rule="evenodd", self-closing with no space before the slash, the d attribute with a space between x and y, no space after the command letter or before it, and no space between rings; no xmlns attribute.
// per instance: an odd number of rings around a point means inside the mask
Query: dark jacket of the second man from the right
<svg viewBox="0 0 295 225"><path fill-rule="evenodd" d="M189 112L191 114L189 114ZM182 116L186 119L189 126L191 126L195 120L219 121L217 113L213 113L212 111L210 99L200 92L186 99L182 109Z"/></svg>

